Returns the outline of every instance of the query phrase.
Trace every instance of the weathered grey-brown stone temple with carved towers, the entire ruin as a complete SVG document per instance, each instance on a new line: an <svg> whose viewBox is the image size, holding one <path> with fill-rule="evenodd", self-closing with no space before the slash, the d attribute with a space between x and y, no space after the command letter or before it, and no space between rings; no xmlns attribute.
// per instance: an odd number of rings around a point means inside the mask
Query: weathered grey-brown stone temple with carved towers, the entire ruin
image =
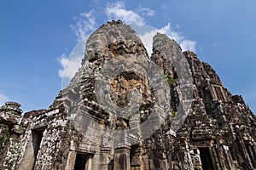
<svg viewBox="0 0 256 170"><path fill-rule="evenodd" d="M48 109L0 107L0 169L256 169L256 116L211 65L166 35L153 54L131 26L87 40Z"/></svg>

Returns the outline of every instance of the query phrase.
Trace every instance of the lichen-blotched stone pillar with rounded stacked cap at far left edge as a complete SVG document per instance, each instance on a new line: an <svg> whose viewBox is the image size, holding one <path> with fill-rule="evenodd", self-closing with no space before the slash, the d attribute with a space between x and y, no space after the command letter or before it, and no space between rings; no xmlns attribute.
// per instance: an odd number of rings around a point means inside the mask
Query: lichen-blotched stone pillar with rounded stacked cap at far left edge
<svg viewBox="0 0 256 170"><path fill-rule="evenodd" d="M16 102L6 102L0 107L0 169L15 169L20 156L20 144L25 127L20 127L22 110Z"/></svg>

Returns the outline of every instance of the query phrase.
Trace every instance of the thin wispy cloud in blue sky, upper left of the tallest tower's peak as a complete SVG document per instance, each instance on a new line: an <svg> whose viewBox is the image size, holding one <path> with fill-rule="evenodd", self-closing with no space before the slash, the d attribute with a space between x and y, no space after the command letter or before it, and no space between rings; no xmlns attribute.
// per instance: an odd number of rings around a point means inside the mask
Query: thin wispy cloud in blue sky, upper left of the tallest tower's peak
<svg viewBox="0 0 256 170"><path fill-rule="evenodd" d="M79 14L79 18L74 17L76 23L70 27L77 36L78 41L82 40L84 37L88 36L91 31L96 29L96 17L93 12L93 10L90 10L89 13Z"/></svg>

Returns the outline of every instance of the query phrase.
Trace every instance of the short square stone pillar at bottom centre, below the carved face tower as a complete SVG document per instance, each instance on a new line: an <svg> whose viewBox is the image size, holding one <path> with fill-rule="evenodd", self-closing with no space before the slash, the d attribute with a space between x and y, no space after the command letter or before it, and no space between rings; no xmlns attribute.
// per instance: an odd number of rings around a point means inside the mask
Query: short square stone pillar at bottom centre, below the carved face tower
<svg viewBox="0 0 256 170"><path fill-rule="evenodd" d="M130 170L130 146L114 149L114 170Z"/></svg>

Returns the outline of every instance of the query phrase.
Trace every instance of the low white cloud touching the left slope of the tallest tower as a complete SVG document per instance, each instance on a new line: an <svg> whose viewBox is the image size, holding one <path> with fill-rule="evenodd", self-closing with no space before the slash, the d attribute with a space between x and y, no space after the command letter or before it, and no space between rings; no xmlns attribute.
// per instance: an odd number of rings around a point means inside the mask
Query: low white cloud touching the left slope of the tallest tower
<svg viewBox="0 0 256 170"><path fill-rule="evenodd" d="M61 64L62 69L59 70L59 76L61 78L71 79L78 71L81 65L81 57L67 58L66 54L62 54L58 61Z"/></svg>

